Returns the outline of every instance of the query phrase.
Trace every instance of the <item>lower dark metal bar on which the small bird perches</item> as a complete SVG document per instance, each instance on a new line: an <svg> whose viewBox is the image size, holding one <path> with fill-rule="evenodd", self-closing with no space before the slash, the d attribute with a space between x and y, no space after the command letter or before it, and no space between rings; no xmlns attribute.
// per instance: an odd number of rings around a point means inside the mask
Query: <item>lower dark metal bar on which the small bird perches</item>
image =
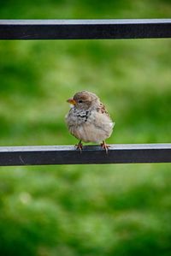
<svg viewBox="0 0 171 256"><path fill-rule="evenodd" d="M171 144L101 146L0 146L0 165L171 163Z"/></svg>

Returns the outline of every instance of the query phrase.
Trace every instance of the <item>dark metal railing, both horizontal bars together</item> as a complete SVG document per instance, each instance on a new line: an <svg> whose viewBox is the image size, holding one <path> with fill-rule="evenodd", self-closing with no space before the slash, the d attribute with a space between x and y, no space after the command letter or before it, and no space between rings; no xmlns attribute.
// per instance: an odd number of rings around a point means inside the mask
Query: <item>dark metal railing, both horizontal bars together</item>
<svg viewBox="0 0 171 256"><path fill-rule="evenodd" d="M0 20L0 39L171 38L171 19ZM0 165L171 163L171 144L0 146Z"/></svg>

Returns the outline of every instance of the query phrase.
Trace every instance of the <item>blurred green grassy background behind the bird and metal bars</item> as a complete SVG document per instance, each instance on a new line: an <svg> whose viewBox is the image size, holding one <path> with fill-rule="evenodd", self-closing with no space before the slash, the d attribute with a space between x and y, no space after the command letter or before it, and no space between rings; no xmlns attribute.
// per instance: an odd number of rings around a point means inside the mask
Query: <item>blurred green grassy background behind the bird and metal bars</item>
<svg viewBox="0 0 171 256"><path fill-rule="evenodd" d="M1 19L169 18L170 0L1 0ZM170 39L0 41L0 145L68 145L66 99L107 105L108 143L171 139ZM0 168L0 255L171 255L170 164Z"/></svg>

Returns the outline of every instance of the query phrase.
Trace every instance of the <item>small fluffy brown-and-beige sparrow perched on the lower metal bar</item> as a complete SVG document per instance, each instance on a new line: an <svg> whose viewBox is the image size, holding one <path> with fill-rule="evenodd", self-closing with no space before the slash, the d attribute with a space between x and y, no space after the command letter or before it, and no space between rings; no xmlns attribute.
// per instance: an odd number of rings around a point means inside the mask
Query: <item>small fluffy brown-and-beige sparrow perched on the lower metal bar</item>
<svg viewBox="0 0 171 256"><path fill-rule="evenodd" d="M75 145L80 152L83 149L83 142L101 143L106 153L109 146L105 140L113 132L115 122L112 122L108 111L100 98L93 92L76 92L73 98L68 98L71 105L68 115L65 116L70 134L79 141Z"/></svg>

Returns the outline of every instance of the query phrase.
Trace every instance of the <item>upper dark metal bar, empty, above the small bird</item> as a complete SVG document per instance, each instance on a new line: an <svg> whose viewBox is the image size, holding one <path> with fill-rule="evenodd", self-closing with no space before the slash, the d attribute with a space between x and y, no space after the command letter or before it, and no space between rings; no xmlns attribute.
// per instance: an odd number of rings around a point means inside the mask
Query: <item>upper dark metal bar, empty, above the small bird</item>
<svg viewBox="0 0 171 256"><path fill-rule="evenodd" d="M0 20L0 39L171 38L171 19Z"/></svg>

